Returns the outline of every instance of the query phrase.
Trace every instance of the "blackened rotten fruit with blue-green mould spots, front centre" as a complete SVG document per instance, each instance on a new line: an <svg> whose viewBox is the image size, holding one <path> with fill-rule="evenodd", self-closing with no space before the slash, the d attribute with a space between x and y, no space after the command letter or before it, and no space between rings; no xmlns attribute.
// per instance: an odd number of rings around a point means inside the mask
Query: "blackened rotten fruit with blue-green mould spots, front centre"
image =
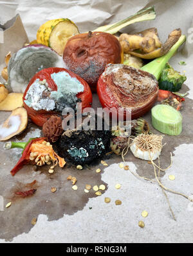
<svg viewBox="0 0 193 256"><path fill-rule="evenodd" d="M88 164L109 152L110 140L110 130L74 129L64 132L55 147L66 161Z"/></svg>

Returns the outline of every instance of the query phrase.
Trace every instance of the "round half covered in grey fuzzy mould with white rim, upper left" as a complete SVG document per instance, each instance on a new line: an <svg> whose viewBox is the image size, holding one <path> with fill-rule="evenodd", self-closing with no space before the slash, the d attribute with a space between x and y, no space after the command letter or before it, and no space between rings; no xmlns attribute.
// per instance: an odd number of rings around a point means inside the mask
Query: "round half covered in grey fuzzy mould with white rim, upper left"
<svg viewBox="0 0 193 256"><path fill-rule="evenodd" d="M21 48L8 63L9 92L24 92L33 75L43 68L64 67L62 57L50 47L32 44Z"/></svg>

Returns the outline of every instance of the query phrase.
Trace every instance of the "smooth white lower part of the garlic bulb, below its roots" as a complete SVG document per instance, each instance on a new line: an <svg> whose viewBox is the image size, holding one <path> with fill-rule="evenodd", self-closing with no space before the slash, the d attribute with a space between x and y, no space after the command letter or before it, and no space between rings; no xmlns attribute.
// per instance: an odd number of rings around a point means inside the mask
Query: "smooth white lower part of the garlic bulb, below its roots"
<svg viewBox="0 0 193 256"><path fill-rule="evenodd" d="M140 148L138 148L138 146L136 146L136 144L134 143L131 144L130 149L135 157L138 157L146 161L156 160L161 153L161 150L154 150L154 152L152 151L149 152L147 150L140 150Z"/></svg>

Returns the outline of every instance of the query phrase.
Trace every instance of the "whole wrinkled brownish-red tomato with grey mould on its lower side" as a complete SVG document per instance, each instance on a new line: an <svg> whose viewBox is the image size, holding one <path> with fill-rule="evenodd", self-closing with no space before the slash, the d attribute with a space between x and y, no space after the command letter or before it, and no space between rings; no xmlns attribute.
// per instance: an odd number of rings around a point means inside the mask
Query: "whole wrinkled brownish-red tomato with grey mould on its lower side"
<svg viewBox="0 0 193 256"><path fill-rule="evenodd" d="M123 51L118 39L105 32L89 32L71 37L63 59L69 70L80 75L96 92L98 78L108 63L122 63Z"/></svg>

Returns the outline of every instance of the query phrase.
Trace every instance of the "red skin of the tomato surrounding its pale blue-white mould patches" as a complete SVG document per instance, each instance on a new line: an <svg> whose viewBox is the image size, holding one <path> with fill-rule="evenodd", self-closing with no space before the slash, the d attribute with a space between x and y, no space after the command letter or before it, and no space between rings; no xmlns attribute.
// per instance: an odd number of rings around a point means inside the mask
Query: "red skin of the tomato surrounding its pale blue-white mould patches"
<svg viewBox="0 0 193 256"><path fill-rule="evenodd" d="M48 87L51 88L52 91L57 91L57 84L55 84L53 79L51 79L51 74L62 71L67 72L71 77L75 77L76 79L78 79L78 81L80 81L80 83L82 83L82 85L84 86L84 92L80 92L79 94L77 94L77 98L80 99L80 101L82 102L82 110L84 108L90 107L93 99L89 85L77 74L74 74L73 72L70 72L65 68L46 68L35 74L24 92L23 103L30 86L35 82L36 79L40 79L40 81L46 79ZM33 123L37 124L38 126L42 126L44 123L46 123L51 115L59 114L58 112L54 111L33 110L33 108L30 108L26 103L24 103L24 108L26 108L28 115L32 119Z"/></svg>

